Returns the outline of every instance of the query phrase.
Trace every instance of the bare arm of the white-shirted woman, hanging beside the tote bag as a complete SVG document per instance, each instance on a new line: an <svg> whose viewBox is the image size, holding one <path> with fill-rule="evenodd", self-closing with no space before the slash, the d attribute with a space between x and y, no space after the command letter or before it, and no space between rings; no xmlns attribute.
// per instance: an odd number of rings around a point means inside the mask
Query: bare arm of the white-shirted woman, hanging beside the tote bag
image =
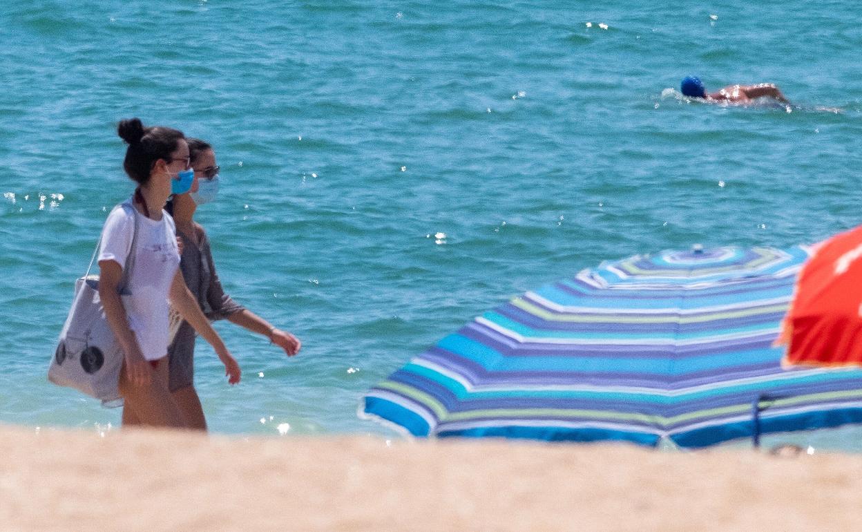
<svg viewBox="0 0 862 532"><path fill-rule="evenodd" d="M152 371L141 353L141 346L128 327L126 308L118 287L122 279L122 267L116 260L99 261L99 299L105 310L108 325L120 342L126 360L126 374L132 385L143 386L150 383Z"/></svg>

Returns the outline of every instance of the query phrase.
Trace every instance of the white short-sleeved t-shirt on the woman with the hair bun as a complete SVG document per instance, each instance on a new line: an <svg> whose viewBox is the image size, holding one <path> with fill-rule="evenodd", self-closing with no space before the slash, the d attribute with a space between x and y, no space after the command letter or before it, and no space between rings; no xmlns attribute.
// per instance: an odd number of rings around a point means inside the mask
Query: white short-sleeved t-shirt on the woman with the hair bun
<svg viewBox="0 0 862 532"><path fill-rule="evenodd" d="M131 295L122 299L141 353L147 360L158 360L167 354L169 341L167 297L179 266L177 229L164 210L156 222L134 209L131 199L122 204L126 208L112 210L105 220L99 261L116 260L125 268L137 217L134 265L126 286Z"/></svg>

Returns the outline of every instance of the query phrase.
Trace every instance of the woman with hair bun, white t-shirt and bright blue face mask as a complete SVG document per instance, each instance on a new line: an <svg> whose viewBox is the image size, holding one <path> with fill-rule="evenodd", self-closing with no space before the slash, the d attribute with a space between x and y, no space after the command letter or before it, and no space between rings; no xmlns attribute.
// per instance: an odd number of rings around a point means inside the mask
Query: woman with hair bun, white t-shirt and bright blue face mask
<svg viewBox="0 0 862 532"><path fill-rule="evenodd" d="M177 129L145 128L137 118L121 121L117 134L128 143L123 168L138 187L105 221L98 263L99 297L124 354L122 423L186 428L189 422L168 391L168 300L213 346L228 382L240 381L240 366L185 286L176 228L163 210L172 193L191 186L189 146ZM122 299L119 286L132 253Z"/></svg>

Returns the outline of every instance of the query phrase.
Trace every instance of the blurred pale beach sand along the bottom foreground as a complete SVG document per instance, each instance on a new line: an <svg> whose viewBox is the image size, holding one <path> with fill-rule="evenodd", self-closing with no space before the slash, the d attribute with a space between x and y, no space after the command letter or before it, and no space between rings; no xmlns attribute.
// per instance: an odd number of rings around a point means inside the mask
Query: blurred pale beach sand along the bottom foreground
<svg viewBox="0 0 862 532"><path fill-rule="evenodd" d="M850 530L862 456L0 427L0 528Z"/></svg>

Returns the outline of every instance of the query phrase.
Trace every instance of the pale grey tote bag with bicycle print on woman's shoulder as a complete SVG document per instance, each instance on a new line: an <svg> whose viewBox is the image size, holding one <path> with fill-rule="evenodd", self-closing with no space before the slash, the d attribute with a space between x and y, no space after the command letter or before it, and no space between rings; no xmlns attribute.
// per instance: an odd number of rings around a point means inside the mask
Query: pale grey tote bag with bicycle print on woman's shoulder
<svg viewBox="0 0 862 532"><path fill-rule="evenodd" d="M124 209L127 212L132 210L134 216L132 247L120 280L120 296L123 305L128 308L128 278L134 267L138 217L129 202L121 203L115 209ZM122 404L122 397L117 384L122 369L123 352L105 317L99 298L99 276L90 275L101 242L99 239L84 277L75 282L72 309L69 310L63 330L59 333L57 349L48 367L48 380L55 385L68 386L101 399L106 406L119 406Z"/></svg>

